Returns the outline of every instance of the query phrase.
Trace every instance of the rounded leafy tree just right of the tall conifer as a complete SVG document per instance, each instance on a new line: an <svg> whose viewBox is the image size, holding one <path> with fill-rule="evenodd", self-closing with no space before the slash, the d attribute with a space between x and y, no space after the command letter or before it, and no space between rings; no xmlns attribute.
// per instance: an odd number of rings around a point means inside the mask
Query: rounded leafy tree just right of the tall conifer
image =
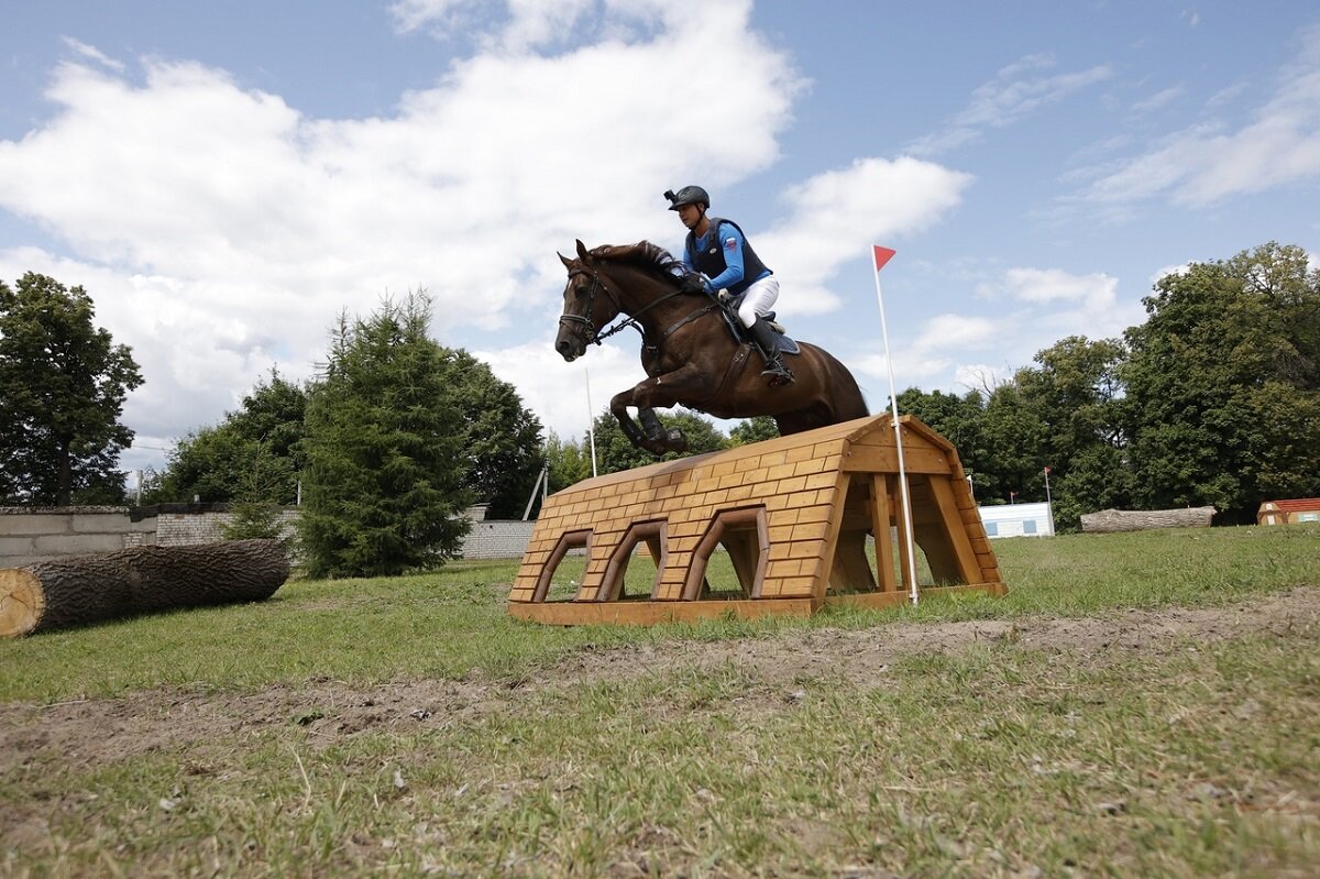
<svg viewBox="0 0 1320 879"><path fill-rule="evenodd" d="M445 350L445 372L454 404L466 424L466 486L490 504L494 519L523 515L541 472L541 421L523 407L517 389L462 348Z"/></svg>

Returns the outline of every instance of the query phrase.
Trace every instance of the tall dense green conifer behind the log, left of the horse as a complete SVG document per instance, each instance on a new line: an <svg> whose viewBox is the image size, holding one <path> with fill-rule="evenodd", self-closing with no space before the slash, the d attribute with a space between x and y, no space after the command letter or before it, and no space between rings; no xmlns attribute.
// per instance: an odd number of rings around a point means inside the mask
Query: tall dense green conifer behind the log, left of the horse
<svg viewBox="0 0 1320 879"><path fill-rule="evenodd" d="M308 399L301 546L313 577L378 577L444 564L470 528L467 438L430 301L387 300L339 318Z"/></svg>

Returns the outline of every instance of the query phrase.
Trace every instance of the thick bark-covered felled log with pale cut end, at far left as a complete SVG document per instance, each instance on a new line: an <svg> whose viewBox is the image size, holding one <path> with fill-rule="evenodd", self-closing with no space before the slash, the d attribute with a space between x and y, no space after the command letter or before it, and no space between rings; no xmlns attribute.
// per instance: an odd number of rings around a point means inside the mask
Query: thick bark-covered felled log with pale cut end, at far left
<svg viewBox="0 0 1320 879"><path fill-rule="evenodd" d="M259 602L289 577L277 540L135 546L0 569L0 636L128 614Z"/></svg>

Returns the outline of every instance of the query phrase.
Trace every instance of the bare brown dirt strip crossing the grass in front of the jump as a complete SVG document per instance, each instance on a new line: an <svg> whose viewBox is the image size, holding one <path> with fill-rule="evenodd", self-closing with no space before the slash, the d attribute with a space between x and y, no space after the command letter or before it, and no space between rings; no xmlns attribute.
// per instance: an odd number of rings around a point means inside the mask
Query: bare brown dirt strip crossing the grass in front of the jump
<svg viewBox="0 0 1320 879"><path fill-rule="evenodd" d="M1134 655L1154 657L1187 649L1189 641L1296 635L1315 632L1317 626L1320 589L1298 587L1220 608L894 624L861 631L824 628L752 640L586 649L511 680L411 680L372 686L313 680L251 693L147 690L116 700L7 703L0 705L0 775L48 760L77 768L154 748L209 740L232 743L288 726L305 727L314 740L329 744L367 730L462 725L531 698L644 674L733 668L755 681L739 710L768 713L791 705L800 685L812 678L875 685L903 657L986 643L1067 653L1069 661L1101 668Z"/></svg>

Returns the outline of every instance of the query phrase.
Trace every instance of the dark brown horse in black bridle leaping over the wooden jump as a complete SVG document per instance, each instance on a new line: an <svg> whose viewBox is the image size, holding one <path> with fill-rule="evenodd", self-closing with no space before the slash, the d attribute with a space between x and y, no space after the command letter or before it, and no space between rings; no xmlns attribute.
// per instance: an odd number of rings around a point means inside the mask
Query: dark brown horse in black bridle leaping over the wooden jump
<svg viewBox="0 0 1320 879"><path fill-rule="evenodd" d="M767 384L759 354L752 358L755 348L730 330L737 318L727 321L723 306L664 248L639 242L587 251L578 240L576 259L558 257L569 278L554 348L566 362L626 327L642 334L647 377L610 400L610 413L635 446L656 455L686 450L682 433L664 430L655 414L673 405L717 418L771 416L780 436L870 414L847 367L805 342L785 358L795 380ZM620 315L619 325L606 329Z"/></svg>

